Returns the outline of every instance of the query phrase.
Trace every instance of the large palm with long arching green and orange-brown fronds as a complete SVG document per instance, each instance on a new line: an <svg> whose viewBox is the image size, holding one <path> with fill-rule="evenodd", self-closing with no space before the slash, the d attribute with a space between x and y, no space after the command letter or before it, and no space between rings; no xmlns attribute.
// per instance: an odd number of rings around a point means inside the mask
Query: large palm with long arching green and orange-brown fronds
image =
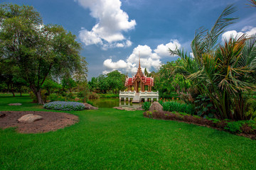
<svg viewBox="0 0 256 170"><path fill-rule="evenodd" d="M176 72L191 79L202 96L208 96L222 119L248 120L245 91L255 91L256 36L230 37L221 45L219 36L237 18L226 18L236 8L228 6L211 30L200 28L191 42L193 57L183 50L171 50L183 60Z"/></svg>

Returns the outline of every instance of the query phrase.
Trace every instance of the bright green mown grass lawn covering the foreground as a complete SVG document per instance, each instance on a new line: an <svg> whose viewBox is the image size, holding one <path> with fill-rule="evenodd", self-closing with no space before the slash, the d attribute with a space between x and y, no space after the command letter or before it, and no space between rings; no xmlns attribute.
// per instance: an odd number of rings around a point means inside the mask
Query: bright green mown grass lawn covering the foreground
<svg viewBox="0 0 256 170"><path fill-rule="evenodd" d="M7 106L8 103L23 106ZM0 96L0 111L45 111L28 96ZM0 130L0 169L255 169L256 141L144 118L142 111L67 112L80 122L43 134Z"/></svg>

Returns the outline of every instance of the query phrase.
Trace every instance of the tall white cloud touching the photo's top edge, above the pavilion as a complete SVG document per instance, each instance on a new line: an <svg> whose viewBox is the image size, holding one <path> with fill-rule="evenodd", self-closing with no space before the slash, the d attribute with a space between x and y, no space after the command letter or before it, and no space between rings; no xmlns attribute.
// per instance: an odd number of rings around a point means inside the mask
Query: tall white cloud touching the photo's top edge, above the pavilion
<svg viewBox="0 0 256 170"><path fill-rule="evenodd" d="M79 38L85 45L109 47L129 47L132 42L122 32L134 29L136 21L129 21L129 16L121 9L119 0L75 0L84 8L89 8L90 15L97 19L92 30L82 29Z"/></svg>

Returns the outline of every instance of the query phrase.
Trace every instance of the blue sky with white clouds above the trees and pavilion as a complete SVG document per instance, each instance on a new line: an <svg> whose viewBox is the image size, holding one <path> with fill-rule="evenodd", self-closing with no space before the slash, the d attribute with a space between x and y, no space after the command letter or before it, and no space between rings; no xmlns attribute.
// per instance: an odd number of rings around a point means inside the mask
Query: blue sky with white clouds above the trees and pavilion
<svg viewBox="0 0 256 170"><path fill-rule="evenodd" d="M3 0L2 0L3 1ZM77 36L81 55L88 62L88 79L114 69L131 75L149 72L176 60L168 47L191 51L195 30L211 28L223 9L234 4L239 20L227 28L231 34L256 33L256 8L246 0L4 0L34 6L45 24L62 25Z"/></svg>

